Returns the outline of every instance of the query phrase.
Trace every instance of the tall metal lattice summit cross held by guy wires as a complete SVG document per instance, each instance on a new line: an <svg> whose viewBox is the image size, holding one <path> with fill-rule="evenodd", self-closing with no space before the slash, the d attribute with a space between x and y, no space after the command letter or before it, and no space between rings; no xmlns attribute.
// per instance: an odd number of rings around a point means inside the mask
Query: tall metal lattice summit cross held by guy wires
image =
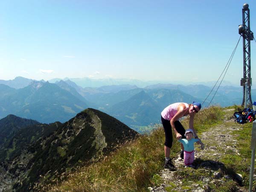
<svg viewBox="0 0 256 192"><path fill-rule="evenodd" d="M244 77L241 78L241 86L243 86L243 101L242 106L247 105L252 107L251 99L251 70L250 70L250 41L253 40L253 32L250 30L250 9L245 3L242 9L243 24L239 25L239 34L243 37L243 56L244 56ZM244 106L244 108L247 108Z"/></svg>

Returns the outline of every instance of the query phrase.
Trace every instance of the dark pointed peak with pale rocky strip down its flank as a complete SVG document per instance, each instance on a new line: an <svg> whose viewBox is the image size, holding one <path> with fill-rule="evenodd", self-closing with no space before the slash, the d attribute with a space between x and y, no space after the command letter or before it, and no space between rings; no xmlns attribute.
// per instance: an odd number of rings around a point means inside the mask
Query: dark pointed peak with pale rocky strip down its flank
<svg viewBox="0 0 256 192"><path fill-rule="evenodd" d="M30 151L35 153L26 166L26 178L14 189L28 191L40 175L54 178L79 162L89 162L113 151L117 144L134 139L136 131L101 111L88 108L64 124L55 126L49 137L39 138ZM18 140L13 140L17 143ZM47 181L46 181L47 182ZM33 184L32 184L33 183Z"/></svg>

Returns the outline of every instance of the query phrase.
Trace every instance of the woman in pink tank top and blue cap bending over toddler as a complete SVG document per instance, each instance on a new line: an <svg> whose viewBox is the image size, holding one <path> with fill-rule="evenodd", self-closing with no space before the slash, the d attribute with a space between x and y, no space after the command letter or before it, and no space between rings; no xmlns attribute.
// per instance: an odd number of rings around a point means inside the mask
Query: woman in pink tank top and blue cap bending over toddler
<svg viewBox="0 0 256 192"><path fill-rule="evenodd" d="M185 138L185 129L179 122L179 119L183 116L189 115L189 128L193 130L195 139L199 139L194 129L194 117L195 113L201 109L201 104L193 102L187 103L173 103L167 106L161 113L161 120L165 132L164 154L165 163L164 168L176 171L176 167L172 164L170 159L170 151L172 148L172 129L174 131L177 140ZM184 147L181 144L180 159L184 158Z"/></svg>

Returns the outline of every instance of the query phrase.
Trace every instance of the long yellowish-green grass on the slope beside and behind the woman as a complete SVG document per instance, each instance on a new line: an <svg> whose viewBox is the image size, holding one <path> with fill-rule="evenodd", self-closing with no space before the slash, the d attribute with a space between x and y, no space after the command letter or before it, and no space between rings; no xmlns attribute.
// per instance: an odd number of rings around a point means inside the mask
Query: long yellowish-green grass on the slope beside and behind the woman
<svg viewBox="0 0 256 192"><path fill-rule="evenodd" d="M222 119L224 119L224 112L220 107L201 110L195 116L195 129L200 135L201 132L207 131L211 126L221 123ZM188 118L182 120L185 128L188 128L188 122ZM115 152L100 162L79 167L76 172L65 172L55 180L59 184L47 186L38 183L35 190L52 192L146 192L149 185L160 183L157 173L163 169L163 146L164 131L162 125L155 125L151 134L142 135L133 142L118 146ZM174 140L171 157L177 156L180 151L179 146L179 143ZM67 179L64 179L66 177Z"/></svg>

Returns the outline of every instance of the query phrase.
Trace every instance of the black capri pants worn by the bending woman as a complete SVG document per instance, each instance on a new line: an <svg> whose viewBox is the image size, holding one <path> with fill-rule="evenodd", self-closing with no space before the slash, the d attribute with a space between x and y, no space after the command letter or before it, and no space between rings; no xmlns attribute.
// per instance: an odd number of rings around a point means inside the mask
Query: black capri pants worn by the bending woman
<svg viewBox="0 0 256 192"><path fill-rule="evenodd" d="M164 132L165 132L165 143L164 145L166 147L171 148L172 147L172 126L169 120L163 119L163 117L161 116L161 121L163 124L163 128L164 128ZM184 139L185 137L185 129L183 128L183 126L181 125L181 123L179 121L175 121L174 122L175 128L177 130L177 132L179 134L181 134L181 138Z"/></svg>

